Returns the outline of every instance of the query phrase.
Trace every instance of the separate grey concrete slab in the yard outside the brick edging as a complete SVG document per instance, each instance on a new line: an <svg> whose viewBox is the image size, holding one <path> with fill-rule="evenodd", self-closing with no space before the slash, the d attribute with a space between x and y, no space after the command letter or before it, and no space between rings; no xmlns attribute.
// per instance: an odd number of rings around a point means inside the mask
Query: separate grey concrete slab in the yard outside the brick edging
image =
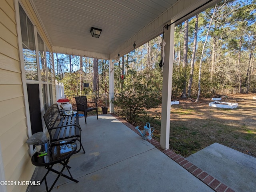
<svg viewBox="0 0 256 192"><path fill-rule="evenodd" d="M256 158L214 143L186 158L236 192L256 191Z"/></svg>

